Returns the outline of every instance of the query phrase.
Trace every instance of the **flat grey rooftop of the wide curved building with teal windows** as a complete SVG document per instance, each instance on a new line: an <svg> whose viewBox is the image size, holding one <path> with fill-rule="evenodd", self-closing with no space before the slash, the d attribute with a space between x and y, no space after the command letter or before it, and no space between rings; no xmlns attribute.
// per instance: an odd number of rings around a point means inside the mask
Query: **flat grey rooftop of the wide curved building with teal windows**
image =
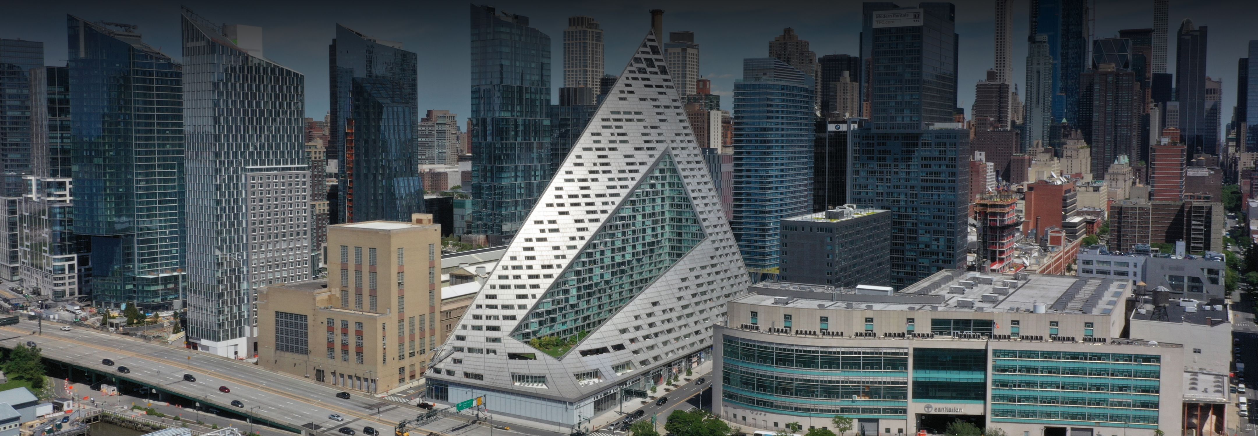
<svg viewBox="0 0 1258 436"><path fill-rule="evenodd" d="M881 286L834 288L761 283L735 299L810 309L1043 312L1110 315L1130 295L1130 280L1048 274L945 270L899 292ZM779 297L789 297L789 300Z"/></svg>

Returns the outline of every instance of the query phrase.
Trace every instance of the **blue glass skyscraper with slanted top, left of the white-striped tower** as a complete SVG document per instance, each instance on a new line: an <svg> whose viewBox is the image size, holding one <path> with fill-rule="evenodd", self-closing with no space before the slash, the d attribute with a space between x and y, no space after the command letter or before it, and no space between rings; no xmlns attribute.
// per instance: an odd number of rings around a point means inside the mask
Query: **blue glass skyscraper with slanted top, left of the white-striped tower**
<svg viewBox="0 0 1258 436"><path fill-rule="evenodd" d="M182 67L133 26L67 16L74 231L92 237L92 299L180 307Z"/></svg>

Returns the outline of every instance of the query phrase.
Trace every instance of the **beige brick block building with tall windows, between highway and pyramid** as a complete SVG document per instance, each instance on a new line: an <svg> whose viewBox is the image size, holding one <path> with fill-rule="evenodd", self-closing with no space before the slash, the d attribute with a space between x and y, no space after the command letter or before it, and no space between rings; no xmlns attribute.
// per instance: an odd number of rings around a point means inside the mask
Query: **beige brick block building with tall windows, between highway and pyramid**
<svg viewBox="0 0 1258 436"><path fill-rule="evenodd" d="M442 341L442 235L411 221L328 226L326 280L258 294L258 364L369 393L421 378Z"/></svg>

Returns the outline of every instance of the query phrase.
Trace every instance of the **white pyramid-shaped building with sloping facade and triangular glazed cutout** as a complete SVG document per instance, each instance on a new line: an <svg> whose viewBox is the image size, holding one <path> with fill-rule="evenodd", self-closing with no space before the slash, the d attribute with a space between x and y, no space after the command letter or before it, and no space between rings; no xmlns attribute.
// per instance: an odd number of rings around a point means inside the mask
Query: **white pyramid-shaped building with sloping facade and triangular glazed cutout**
<svg viewBox="0 0 1258 436"><path fill-rule="evenodd" d="M572 428L711 358L749 278L677 88L648 34L435 354L428 398Z"/></svg>

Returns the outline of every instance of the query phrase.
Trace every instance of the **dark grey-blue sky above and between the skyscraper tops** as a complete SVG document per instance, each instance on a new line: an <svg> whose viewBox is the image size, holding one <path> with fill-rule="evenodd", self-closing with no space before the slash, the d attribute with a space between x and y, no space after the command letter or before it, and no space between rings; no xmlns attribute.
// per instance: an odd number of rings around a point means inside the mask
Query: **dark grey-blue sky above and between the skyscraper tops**
<svg viewBox="0 0 1258 436"><path fill-rule="evenodd" d="M1094 35L1152 26L1152 0L1093 0ZM306 114L322 118L328 108L327 46L335 25L401 41L419 55L419 111L448 109L467 118L470 108L469 14L462 1L276 1L184 0L216 23L263 26L267 58L306 74ZM794 28L818 55L859 54L860 1L850 0L477 0L501 11L526 15L551 36L551 88L562 85L562 34L567 16L589 15L605 30L609 73L619 74L650 26L650 9L664 9L664 33L691 30L699 44L699 74L712 80L721 106L731 107L733 80L743 58L766 57L769 41ZM913 6L917 1L897 1ZM959 103L969 116L974 84L994 65L994 0L956 0L960 34ZM1023 89L1030 0L1014 0L1014 83ZM91 21L136 24L145 41L180 59L179 1L10 1L0 14L0 38L44 41L45 63L65 64L65 14ZM1237 59L1258 39L1254 0L1171 0L1167 72L1175 70L1175 31L1185 18L1209 26L1206 74L1223 79L1225 126L1235 104Z"/></svg>

